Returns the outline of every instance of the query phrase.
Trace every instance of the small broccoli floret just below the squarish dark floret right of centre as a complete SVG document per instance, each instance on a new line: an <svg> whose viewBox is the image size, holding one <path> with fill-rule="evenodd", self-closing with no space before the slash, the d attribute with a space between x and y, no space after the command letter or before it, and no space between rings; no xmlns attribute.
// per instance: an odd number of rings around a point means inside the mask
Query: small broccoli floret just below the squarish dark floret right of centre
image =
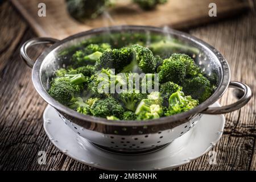
<svg viewBox="0 0 256 182"><path fill-rule="evenodd" d="M164 100L168 100L171 94L182 90L182 87L175 84L174 82L168 81L160 86L160 93Z"/></svg>

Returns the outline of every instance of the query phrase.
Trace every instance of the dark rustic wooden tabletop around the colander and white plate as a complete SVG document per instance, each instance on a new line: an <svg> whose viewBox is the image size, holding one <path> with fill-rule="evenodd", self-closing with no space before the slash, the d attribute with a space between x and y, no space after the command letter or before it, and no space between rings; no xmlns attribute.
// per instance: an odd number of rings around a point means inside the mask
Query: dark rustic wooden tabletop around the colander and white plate
<svg viewBox="0 0 256 182"><path fill-rule="evenodd" d="M255 2L255 1L254 1ZM245 107L225 114L225 132L209 155L177 170L255 170L256 169L256 16L251 11L239 17L189 30L189 33L216 47L228 60L232 80L242 81L253 91ZM0 170L95 170L62 154L43 129L46 102L36 93L31 69L19 58L19 47L36 36L20 14L4 2L0 5ZM39 49L31 50L38 55ZM229 89L220 103L236 100ZM46 151L46 165L38 164L38 152Z"/></svg>

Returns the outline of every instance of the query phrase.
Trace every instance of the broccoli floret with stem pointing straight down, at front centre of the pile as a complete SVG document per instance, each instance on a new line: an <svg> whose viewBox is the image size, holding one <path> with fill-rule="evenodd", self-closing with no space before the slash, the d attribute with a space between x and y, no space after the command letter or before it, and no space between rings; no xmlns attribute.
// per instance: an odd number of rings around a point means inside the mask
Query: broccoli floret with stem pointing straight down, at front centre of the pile
<svg viewBox="0 0 256 182"><path fill-rule="evenodd" d="M126 109L135 111L137 104L143 98L146 98L146 94L139 93L139 90L127 90L118 94L118 100L123 103Z"/></svg>

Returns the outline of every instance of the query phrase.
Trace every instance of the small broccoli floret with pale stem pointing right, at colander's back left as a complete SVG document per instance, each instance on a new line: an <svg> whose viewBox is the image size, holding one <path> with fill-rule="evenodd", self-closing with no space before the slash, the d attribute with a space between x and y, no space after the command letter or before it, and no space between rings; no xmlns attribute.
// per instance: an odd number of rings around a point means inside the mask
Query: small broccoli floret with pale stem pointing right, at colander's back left
<svg viewBox="0 0 256 182"><path fill-rule="evenodd" d="M95 64L101 55L102 53L99 51L93 52L90 55L86 55L82 50L76 51L72 55L73 65L75 65L75 67L81 67L83 65Z"/></svg>

